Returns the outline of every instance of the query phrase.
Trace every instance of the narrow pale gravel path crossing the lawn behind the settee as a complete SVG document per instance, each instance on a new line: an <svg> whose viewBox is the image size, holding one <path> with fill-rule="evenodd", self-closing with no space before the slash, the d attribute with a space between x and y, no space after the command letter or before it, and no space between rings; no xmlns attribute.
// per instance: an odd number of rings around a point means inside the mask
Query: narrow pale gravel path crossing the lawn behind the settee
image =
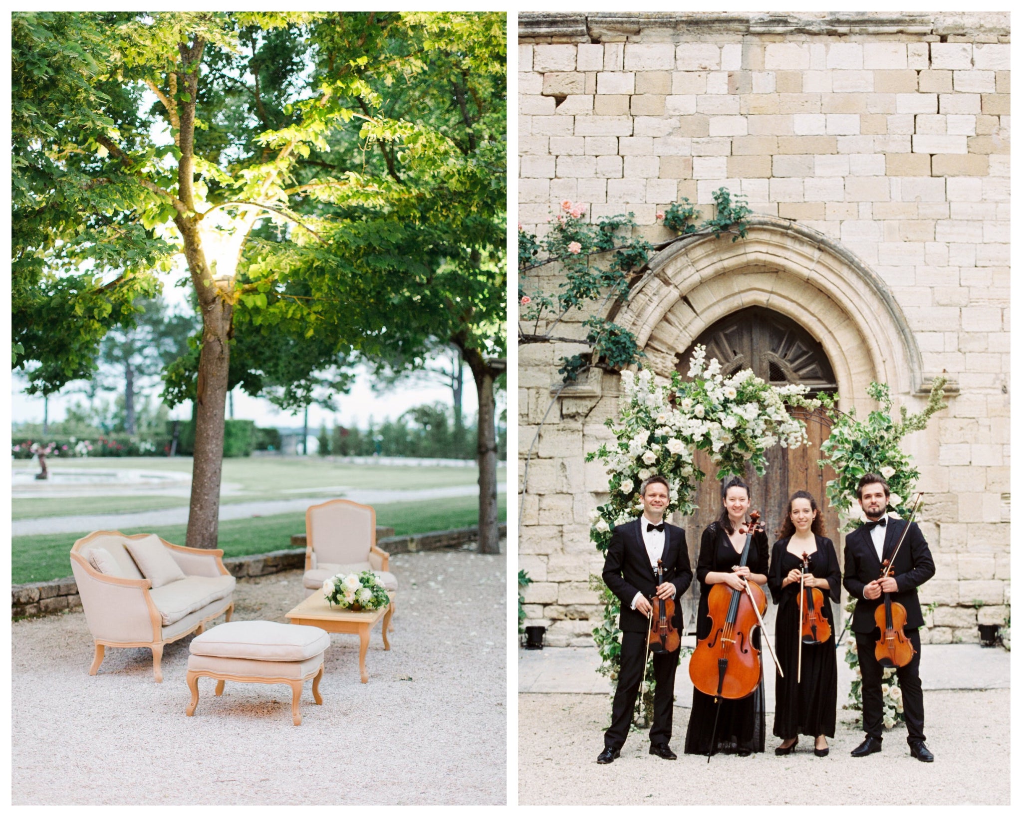
<svg viewBox="0 0 1022 817"><path fill-rule="evenodd" d="M313 489L310 489L313 490ZM507 483L497 486L500 493L507 492ZM363 504L387 502L418 502L424 499L443 499L450 496L475 496L478 485L449 485L443 488L414 490L384 490L345 488L338 492L345 499ZM251 516L270 517L277 514L304 512L309 506L324 502L329 497L304 496L299 499L275 499L259 502L234 502L220 506L220 519L245 519ZM184 525L188 522L187 508L169 508L164 511L142 511L134 514L96 514L91 516L46 517L20 519L11 523L12 536L32 536L40 533L79 533L83 530L121 530L123 528Z"/></svg>

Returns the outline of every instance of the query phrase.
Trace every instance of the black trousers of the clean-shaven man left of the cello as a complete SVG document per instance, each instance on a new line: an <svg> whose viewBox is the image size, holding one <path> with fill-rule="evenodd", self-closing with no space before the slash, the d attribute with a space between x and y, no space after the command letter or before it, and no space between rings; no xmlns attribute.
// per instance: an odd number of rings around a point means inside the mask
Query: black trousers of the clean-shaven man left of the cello
<svg viewBox="0 0 1022 817"><path fill-rule="evenodd" d="M656 690L653 693L653 726L649 730L651 743L670 741L670 726L675 718L675 672L682 651L653 654L653 676ZM617 691L610 728L603 734L603 744L609 749L620 749L629 736L632 713L645 667L646 633L625 632L621 634L621 671L617 676Z"/></svg>

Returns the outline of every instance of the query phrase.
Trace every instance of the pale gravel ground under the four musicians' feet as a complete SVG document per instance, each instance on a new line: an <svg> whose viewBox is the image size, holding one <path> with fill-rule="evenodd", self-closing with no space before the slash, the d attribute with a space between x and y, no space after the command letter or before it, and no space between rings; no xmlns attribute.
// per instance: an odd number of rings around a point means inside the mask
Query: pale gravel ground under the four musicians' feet
<svg viewBox="0 0 1022 817"><path fill-rule="evenodd" d="M884 751L848 753L862 740L850 713L838 711L826 758L800 738L794 756L776 757L773 718L766 752L748 758L680 754L691 710L675 708L677 761L648 754L645 733L632 732L621 756L596 763L610 702L602 694L518 696L518 802L572 805L949 805L1010 802L1008 689L926 692L927 746L936 760L909 755L904 727L884 736ZM746 783L745 781L749 781ZM724 781L730 781L725 783ZM883 782L881 782L883 781Z"/></svg>

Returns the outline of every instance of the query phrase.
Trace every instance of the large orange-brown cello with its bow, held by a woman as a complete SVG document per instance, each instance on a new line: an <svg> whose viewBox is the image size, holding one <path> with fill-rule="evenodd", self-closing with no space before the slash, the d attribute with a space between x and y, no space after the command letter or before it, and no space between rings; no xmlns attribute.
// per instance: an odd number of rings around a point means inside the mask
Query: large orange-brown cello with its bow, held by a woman
<svg viewBox="0 0 1022 817"><path fill-rule="evenodd" d="M745 567L749 559L752 534L762 527L757 525L759 512L749 514L749 525L740 533L745 533L740 567ZM709 634L696 644L689 660L689 677L700 692L712 695L717 705L716 718L721 716L721 699L737 700L750 695L759 684L762 667L759 651L752 643L752 631L758 627L777 671L784 677L784 671L774 655L774 647L763 626L762 614L766 611L766 595L755 582L744 582L742 590L727 584L714 584L707 596L707 615L711 620ZM709 754L713 754L716 740L716 718L713 720L713 734L710 738Z"/></svg>

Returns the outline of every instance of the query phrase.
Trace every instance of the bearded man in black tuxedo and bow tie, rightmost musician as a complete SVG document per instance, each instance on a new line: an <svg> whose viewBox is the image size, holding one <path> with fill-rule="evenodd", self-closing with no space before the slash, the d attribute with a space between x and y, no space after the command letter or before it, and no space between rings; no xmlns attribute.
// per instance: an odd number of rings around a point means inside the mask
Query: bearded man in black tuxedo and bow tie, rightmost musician
<svg viewBox="0 0 1022 817"><path fill-rule="evenodd" d="M844 587L858 603L851 619L858 651L858 667L863 673L863 728L866 739L851 756L862 758L880 752L883 740L883 668L875 655L880 629L874 614L883 605L883 594L904 607L904 634L912 641L916 655L897 669L898 685L904 705L904 720L909 727L909 749L914 758L924 763L933 761L933 754L923 742L923 686L919 680L919 628L923 626L923 611L919 607L916 588L933 577L936 569L929 545L915 522L893 519L887 515L890 488L878 474L866 474L855 489L858 504L869 520L852 531L844 541ZM901 549L894 559L892 576L880 578L883 561L890 559L904 526L909 525Z"/></svg>

